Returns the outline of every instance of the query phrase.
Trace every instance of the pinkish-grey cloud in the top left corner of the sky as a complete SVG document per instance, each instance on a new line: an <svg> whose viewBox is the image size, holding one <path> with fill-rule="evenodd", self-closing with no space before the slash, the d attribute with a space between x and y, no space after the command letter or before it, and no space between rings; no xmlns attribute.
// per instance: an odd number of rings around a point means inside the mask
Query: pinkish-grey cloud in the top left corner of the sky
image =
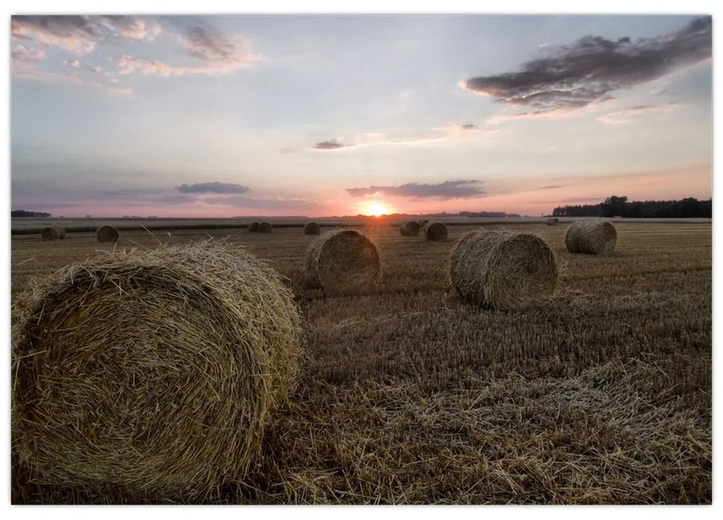
<svg viewBox="0 0 723 520"><path fill-rule="evenodd" d="M92 17L76 15L16 15L10 20L10 31L14 38L37 40L77 54L92 52L100 38Z"/></svg>

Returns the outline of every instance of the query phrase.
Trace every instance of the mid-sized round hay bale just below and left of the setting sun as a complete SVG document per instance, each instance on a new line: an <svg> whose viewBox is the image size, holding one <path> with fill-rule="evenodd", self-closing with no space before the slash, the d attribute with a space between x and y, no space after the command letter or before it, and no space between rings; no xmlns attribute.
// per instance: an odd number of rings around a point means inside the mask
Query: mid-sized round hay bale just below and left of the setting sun
<svg viewBox="0 0 723 520"><path fill-rule="evenodd" d="M329 230L307 250L309 280L325 290L367 287L379 279L380 270L377 246L354 229Z"/></svg>

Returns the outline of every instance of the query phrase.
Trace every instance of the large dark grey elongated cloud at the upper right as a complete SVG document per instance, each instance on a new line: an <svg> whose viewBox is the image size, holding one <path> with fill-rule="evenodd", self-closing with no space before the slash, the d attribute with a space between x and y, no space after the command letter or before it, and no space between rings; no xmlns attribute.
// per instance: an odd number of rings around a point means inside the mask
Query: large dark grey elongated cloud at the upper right
<svg viewBox="0 0 723 520"><path fill-rule="evenodd" d="M576 110L609 100L609 92L662 77L711 57L712 19L699 17L656 38L585 36L526 62L517 72L480 76L461 87L509 106Z"/></svg>

